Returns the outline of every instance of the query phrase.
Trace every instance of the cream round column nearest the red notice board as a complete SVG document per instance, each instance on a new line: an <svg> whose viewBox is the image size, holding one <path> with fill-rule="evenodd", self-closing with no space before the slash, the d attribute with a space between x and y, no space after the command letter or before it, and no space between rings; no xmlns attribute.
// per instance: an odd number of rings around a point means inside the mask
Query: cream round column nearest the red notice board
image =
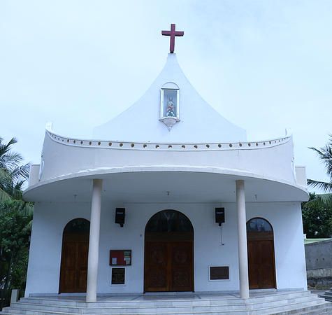
<svg viewBox="0 0 332 315"><path fill-rule="evenodd" d="M101 179L94 179L92 188L89 256L87 258L87 302L96 302L97 300L102 183Z"/></svg>

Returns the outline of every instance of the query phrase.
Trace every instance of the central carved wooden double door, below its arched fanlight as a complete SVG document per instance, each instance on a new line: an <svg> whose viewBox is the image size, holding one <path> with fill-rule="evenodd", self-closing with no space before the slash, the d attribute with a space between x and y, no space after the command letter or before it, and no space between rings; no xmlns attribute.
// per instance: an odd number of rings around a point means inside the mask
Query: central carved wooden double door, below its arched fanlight
<svg viewBox="0 0 332 315"><path fill-rule="evenodd" d="M145 242L145 292L194 290L193 241Z"/></svg>

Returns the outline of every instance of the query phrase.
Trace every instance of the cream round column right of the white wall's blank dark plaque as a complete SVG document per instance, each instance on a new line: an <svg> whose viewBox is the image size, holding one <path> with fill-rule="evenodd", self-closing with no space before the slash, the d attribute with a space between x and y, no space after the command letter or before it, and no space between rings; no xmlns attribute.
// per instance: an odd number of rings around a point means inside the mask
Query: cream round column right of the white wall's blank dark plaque
<svg viewBox="0 0 332 315"><path fill-rule="evenodd" d="M238 269L240 275L240 297L249 297L247 226L245 218L245 181L236 181L236 207L238 209Z"/></svg>

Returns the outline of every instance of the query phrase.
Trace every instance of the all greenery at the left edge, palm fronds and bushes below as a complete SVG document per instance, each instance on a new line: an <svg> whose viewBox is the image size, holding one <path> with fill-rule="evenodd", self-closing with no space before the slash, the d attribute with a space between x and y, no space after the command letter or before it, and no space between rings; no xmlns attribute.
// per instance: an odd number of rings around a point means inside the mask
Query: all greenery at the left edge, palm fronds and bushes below
<svg viewBox="0 0 332 315"><path fill-rule="evenodd" d="M22 200L29 165L0 137L0 289L25 288L33 205ZM1 305L0 305L1 308Z"/></svg>

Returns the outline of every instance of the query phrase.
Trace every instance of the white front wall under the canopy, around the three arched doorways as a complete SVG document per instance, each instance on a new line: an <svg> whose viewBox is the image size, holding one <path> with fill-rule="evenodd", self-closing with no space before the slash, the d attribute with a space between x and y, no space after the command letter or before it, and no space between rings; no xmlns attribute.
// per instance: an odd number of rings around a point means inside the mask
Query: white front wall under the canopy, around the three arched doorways
<svg viewBox="0 0 332 315"><path fill-rule="evenodd" d="M124 228L116 225L115 207L126 208ZM215 223L215 207L226 208L222 227ZM236 204L102 204L99 251L99 293L143 292L144 230L158 211L175 209L194 226L194 288L196 291L238 290ZM89 219L90 204L83 202L37 203L31 236L26 295L58 293L62 232L73 218ZM247 203L247 220L266 218L275 232L277 288L306 289L301 205L297 203ZM126 267L126 286L110 286L110 249L131 249L132 265ZM210 265L229 265L229 281L209 281Z"/></svg>

